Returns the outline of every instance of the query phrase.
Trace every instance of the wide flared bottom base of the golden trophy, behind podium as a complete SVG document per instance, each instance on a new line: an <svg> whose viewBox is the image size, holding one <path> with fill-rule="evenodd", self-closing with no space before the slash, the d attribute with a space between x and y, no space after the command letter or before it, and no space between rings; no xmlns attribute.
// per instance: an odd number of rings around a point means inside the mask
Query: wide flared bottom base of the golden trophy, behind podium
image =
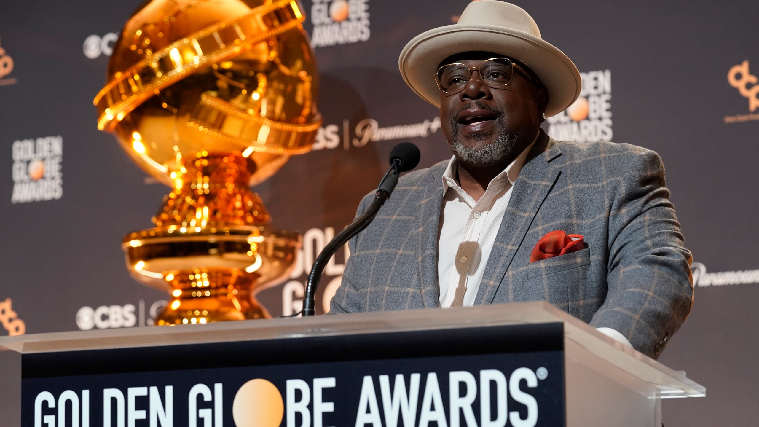
<svg viewBox="0 0 759 427"><path fill-rule="evenodd" d="M156 325L270 318L254 296L288 277L300 246L268 226L156 227L122 242L132 277L172 296Z"/></svg>

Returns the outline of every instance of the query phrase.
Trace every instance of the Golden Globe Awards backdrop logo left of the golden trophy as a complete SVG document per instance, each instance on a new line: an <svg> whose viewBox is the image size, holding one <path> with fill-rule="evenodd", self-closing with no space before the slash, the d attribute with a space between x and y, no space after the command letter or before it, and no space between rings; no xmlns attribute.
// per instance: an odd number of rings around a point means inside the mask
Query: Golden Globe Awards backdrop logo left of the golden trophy
<svg viewBox="0 0 759 427"><path fill-rule="evenodd" d="M63 196L61 135L15 141L12 203L57 200Z"/></svg>

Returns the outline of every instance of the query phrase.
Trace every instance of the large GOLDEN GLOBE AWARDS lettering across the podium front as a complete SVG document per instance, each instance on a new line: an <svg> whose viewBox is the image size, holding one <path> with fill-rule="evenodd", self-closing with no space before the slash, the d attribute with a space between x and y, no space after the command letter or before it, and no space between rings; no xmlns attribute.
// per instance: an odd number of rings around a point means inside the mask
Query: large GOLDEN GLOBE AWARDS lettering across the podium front
<svg viewBox="0 0 759 427"><path fill-rule="evenodd" d="M537 425L540 416L537 400L523 387L539 387L540 380L548 375L545 368L536 371L517 368L509 375L498 369L452 371L442 375L448 377L447 390L441 387L436 372L398 374L395 378L390 375L353 377L354 381L360 381L361 392L357 406L351 407L339 407L339 402L332 401L335 397L345 398L345 391L341 393L335 377L310 381L288 379L284 393L272 381L254 378L236 391L231 418L236 427ZM198 383L191 387L134 385L66 390L58 395L41 391L34 398L34 425L90 427L91 422L109 427L173 427L175 424L224 427L228 406L224 404L226 391L221 382ZM479 410L479 422L475 410ZM99 416L102 419L96 419Z"/></svg>

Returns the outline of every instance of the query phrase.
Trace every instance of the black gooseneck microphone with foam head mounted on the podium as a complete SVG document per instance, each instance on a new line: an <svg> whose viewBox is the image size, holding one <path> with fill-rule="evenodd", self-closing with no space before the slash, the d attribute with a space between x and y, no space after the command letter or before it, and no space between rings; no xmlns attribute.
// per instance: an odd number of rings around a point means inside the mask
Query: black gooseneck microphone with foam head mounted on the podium
<svg viewBox="0 0 759 427"><path fill-rule="evenodd" d="M351 237L356 236L358 232L361 232L362 229L365 229L374 220L377 212L379 212L379 208L390 198L395 185L398 185L398 177L401 172L408 172L417 167L420 157L419 148L410 142L402 142L392 148L389 158L390 169L387 170L382 181L379 182L379 187L377 187L372 204L367 207L367 210L364 210L364 213L361 213L360 217L357 217L345 229L342 229L324 247L316 261L313 261L313 267L311 267L311 272L308 274L303 310L301 311L304 316L316 314L316 302L314 299L317 295L317 286L319 286L319 280L322 277L324 267L326 267L329 258L332 258L332 255L335 254L340 246L345 245L345 242L348 242Z"/></svg>

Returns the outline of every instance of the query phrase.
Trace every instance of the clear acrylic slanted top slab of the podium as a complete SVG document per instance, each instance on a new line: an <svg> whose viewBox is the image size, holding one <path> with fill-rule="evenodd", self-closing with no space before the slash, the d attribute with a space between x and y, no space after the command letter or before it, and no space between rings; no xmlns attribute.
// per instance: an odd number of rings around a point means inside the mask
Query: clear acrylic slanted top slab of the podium
<svg viewBox="0 0 759 427"><path fill-rule="evenodd" d="M652 398L703 397L706 394L706 389L686 378L684 372L674 371L630 346L600 334L547 302L30 334L2 337L0 346L29 354L553 322L564 324L566 358L593 368L641 394Z"/></svg>

